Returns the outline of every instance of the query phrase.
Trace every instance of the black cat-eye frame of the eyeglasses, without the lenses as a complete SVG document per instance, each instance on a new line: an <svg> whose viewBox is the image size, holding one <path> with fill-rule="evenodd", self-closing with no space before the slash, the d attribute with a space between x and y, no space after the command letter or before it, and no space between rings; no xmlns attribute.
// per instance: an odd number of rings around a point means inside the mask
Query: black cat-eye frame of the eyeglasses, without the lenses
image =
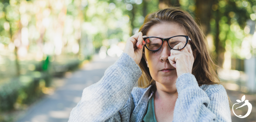
<svg viewBox="0 0 256 122"><path fill-rule="evenodd" d="M184 46L183 48L186 47L186 45L187 45L187 43L188 43L188 40L191 41L191 39L190 39L188 36L184 36L184 35L178 35L178 36L186 37L186 39L187 39L187 40L186 40L186 44L185 44L185 46ZM177 37L177 36L173 36L173 37ZM146 42L146 39L148 39L148 38L158 38L158 39L161 39L161 40L162 40L162 45L161 45L157 50L161 49L161 47L163 46L164 41L167 41L169 47L170 47L171 49L173 49L173 48L170 46L170 44L169 44L169 40L170 40L171 38L173 38L173 37L163 39L163 38L160 38L160 37L151 36L151 37L145 37L145 38L143 38L143 40ZM145 47L148 49L148 47L147 47L146 44L145 44ZM183 49L183 48L182 48L182 49ZM148 49L148 50L150 50L150 49ZM157 51L157 50L150 50L150 51ZM181 50L181 49L174 49L174 50Z"/></svg>

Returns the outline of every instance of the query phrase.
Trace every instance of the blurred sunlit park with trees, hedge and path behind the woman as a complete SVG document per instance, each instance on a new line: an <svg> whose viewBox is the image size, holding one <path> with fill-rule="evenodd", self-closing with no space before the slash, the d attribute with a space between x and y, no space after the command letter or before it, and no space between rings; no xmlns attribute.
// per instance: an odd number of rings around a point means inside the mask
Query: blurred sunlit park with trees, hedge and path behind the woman
<svg viewBox="0 0 256 122"><path fill-rule="evenodd" d="M232 121L256 121L255 0L0 0L0 121L67 121L83 88L100 80L145 16L169 6L202 26ZM77 96L60 97L71 93L68 86ZM241 119L232 105L243 95L253 108ZM245 115L246 107L235 113Z"/></svg>

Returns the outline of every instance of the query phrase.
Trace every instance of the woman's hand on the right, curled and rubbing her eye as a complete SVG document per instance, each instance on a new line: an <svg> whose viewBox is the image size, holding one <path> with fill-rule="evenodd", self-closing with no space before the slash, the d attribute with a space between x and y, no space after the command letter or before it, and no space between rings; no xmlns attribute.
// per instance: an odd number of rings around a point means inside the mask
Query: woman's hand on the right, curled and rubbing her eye
<svg viewBox="0 0 256 122"><path fill-rule="evenodd" d="M180 49L184 47L183 43L180 42L174 47L174 49ZM171 49L171 54L168 57L170 64L176 68L177 76L179 77L182 73L191 73L194 63L193 52L190 45L186 45L182 50Z"/></svg>

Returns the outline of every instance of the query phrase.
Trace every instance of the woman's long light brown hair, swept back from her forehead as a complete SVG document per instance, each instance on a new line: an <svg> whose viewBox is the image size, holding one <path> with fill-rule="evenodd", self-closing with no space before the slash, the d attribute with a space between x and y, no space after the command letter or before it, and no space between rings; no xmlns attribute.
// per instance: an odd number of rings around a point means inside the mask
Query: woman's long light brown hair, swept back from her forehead
<svg viewBox="0 0 256 122"><path fill-rule="evenodd" d="M139 31L142 32L144 36L152 26L161 23L178 24L185 30L187 36L190 37L192 50L195 51L195 49L197 49L197 56L193 64L192 74L195 75L198 85L220 84L220 80L215 72L217 65L212 60L206 37L194 18L185 10L180 9L180 7L166 8L148 14ZM138 86L146 88L150 85L154 85L155 81L150 75L144 57L142 57L139 66L142 70L142 76L138 80Z"/></svg>

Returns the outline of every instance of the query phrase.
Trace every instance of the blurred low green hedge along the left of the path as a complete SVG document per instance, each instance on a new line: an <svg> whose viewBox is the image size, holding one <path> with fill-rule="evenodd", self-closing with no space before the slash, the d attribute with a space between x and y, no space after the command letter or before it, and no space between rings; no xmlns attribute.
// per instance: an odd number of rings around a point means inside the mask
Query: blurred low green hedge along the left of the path
<svg viewBox="0 0 256 122"><path fill-rule="evenodd" d="M63 76L66 71L76 70L80 61L72 60L66 64L53 63L49 65L48 70L42 70L41 66L44 63L37 65L36 71L13 77L0 85L0 112L13 110L18 105L33 103L44 95L42 87L49 87L53 76Z"/></svg>

